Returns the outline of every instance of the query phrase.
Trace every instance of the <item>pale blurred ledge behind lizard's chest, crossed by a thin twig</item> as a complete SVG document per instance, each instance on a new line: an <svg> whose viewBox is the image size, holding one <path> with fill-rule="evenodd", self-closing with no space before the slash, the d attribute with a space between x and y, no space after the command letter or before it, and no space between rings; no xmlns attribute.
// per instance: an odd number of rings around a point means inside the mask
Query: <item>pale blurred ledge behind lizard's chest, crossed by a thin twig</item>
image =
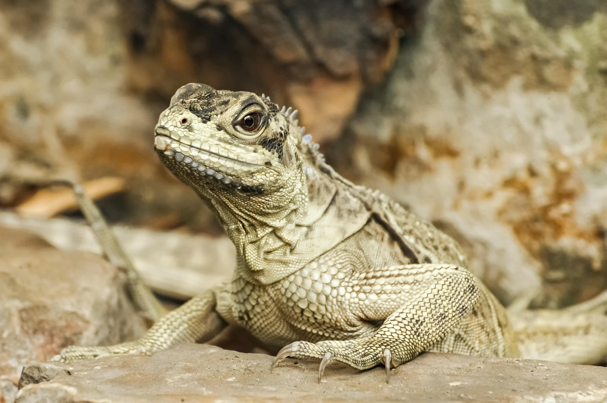
<svg viewBox="0 0 607 403"><path fill-rule="evenodd" d="M90 226L75 220L47 220L0 211L0 226L33 232L58 249L103 253ZM225 236L125 226L112 226L112 231L146 284L164 296L188 300L231 280L236 267L234 244Z"/></svg>

